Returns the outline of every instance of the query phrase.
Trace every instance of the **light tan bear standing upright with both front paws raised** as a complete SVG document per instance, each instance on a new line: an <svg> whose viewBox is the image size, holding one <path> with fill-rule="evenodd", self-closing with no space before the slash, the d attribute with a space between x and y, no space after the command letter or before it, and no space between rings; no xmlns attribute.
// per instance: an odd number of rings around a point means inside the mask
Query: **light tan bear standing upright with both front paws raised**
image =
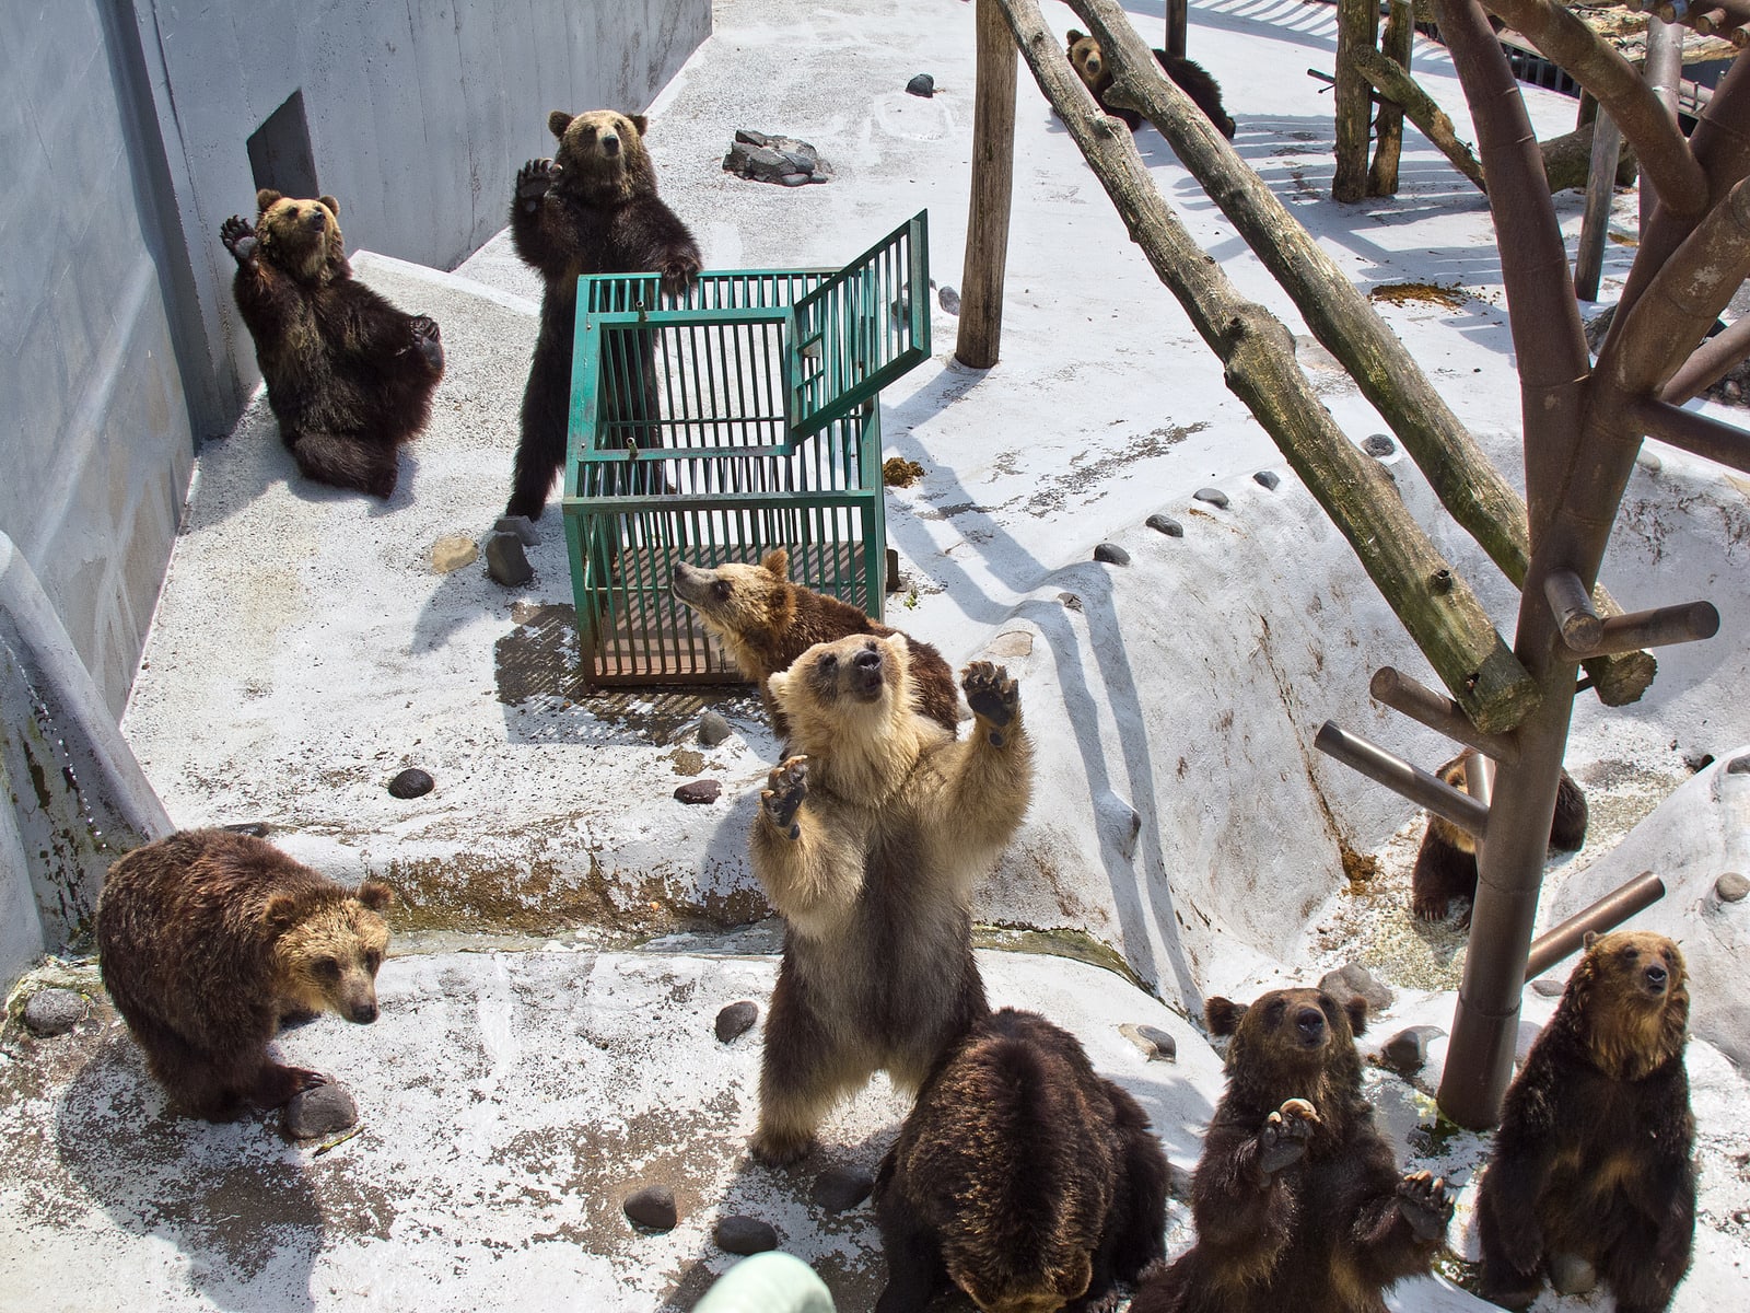
<svg viewBox="0 0 1750 1313"><path fill-rule="evenodd" d="M973 662L954 739L912 702L901 634L808 648L768 681L791 756L760 797L754 874L784 917L754 1157L793 1162L878 1070L917 1089L989 1012L971 888L1020 826L1032 746L1001 667Z"/></svg>

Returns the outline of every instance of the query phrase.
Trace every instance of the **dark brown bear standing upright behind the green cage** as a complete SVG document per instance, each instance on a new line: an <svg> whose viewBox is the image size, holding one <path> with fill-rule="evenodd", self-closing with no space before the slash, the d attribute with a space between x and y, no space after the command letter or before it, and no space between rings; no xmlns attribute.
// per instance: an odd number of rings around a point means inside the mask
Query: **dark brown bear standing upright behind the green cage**
<svg viewBox="0 0 1750 1313"><path fill-rule="evenodd" d="M642 114L553 110L548 130L558 138L558 152L522 166L511 201L511 245L546 284L523 389L516 473L504 508L506 515L530 520L541 518L553 474L565 462L578 277L654 271L662 291L676 298L691 287L702 264L693 235L656 194ZM642 348L649 352L653 343L646 338ZM654 389L654 369L646 366L642 375ZM648 436L639 441L651 445Z"/></svg>

